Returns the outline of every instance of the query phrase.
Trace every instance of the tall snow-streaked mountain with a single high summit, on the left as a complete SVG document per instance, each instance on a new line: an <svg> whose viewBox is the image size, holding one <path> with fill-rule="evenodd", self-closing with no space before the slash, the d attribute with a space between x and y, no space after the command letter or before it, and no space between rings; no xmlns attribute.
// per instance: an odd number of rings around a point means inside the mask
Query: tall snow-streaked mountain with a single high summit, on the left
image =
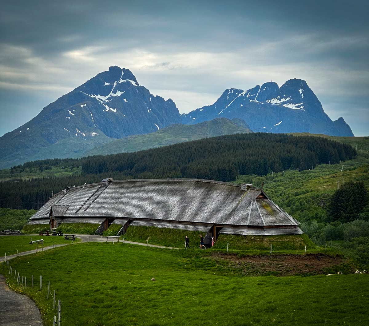
<svg viewBox="0 0 369 326"><path fill-rule="evenodd" d="M139 86L128 69L110 67L0 137L0 168L30 159L76 157L96 145L180 122L171 99Z"/></svg>

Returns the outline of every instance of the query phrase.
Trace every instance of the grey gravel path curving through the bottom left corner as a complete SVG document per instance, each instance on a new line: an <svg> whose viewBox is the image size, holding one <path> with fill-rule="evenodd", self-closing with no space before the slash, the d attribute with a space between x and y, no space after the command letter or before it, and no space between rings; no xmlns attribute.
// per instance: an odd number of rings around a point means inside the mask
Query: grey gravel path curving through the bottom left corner
<svg viewBox="0 0 369 326"><path fill-rule="evenodd" d="M28 296L11 291L0 275L0 325L42 325L41 313Z"/></svg>

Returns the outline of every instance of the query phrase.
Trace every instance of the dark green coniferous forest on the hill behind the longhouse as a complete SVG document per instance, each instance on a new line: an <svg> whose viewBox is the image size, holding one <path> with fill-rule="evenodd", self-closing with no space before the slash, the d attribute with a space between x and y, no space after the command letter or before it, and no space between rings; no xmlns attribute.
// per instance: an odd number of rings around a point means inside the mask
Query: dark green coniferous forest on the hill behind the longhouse
<svg viewBox="0 0 369 326"><path fill-rule="evenodd" d="M350 145L313 136L287 134L234 134L206 138L151 150L97 155L81 159L46 159L13 167L50 169L82 167L82 174L59 178L35 178L0 182L1 207L38 209L67 186L99 182L103 178L199 178L235 181L238 175L266 175L270 171L299 171L317 164L336 164L351 159Z"/></svg>

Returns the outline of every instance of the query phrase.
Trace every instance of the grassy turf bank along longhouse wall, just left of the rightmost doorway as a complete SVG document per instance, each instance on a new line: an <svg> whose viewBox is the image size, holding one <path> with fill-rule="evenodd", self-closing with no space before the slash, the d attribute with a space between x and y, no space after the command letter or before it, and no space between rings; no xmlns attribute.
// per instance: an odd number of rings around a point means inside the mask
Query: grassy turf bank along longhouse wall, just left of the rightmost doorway
<svg viewBox="0 0 369 326"><path fill-rule="evenodd" d="M200 234L205 237L206 232L186 231L154 226L129 226L127 232L122 236L124 240L146 243L159 246L183 248L184 237L190 239L190 247L200 246Z"/></svg>

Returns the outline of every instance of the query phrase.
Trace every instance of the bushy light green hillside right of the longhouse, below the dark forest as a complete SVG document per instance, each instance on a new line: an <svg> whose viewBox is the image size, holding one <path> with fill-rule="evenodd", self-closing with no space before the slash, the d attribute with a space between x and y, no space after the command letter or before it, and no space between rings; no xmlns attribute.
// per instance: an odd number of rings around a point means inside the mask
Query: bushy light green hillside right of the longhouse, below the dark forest
<svg viewBox="0 0 369 326"><path fill-rule="evenodd" d="M345 183L363 182L369 191L369 137L323 137L357 147L358 155L342 164L320 164L310 171L240 175L236 182L255 186L264 182L264 190L270 199L299 220L301 229L311 240L318 245L327 243L362 264L368 264L369 205L349 223L330 222L327 207L334 191Z"/></svg>

